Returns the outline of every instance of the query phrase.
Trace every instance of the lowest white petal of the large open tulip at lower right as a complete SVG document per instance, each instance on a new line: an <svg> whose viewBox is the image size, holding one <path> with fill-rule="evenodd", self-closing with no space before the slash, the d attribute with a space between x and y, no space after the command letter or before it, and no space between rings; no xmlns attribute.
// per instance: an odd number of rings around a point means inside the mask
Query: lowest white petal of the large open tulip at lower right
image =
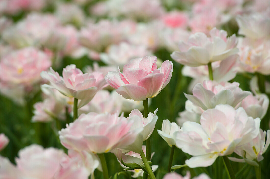
<svg viewBox="0 0 270 179"><path fill-rule="evenodd" d="M208 166L211 166L215 162L217 157L218 157L218 154L214 154L214 153L193 156L189 160L186 160L185 164L187 164L187 166L190 168L208 167Z"/></svg>

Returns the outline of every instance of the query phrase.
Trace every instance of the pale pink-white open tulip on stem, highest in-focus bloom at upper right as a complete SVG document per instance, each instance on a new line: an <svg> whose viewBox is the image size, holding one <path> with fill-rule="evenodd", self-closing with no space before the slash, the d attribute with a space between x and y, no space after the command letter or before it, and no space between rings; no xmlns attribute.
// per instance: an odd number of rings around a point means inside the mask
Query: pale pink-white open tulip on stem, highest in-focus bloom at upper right
<svg viewBox="0 0 270 179"><path fill-rule="evenodd" d="M236 54L236 45L235 34L227 38L226 31L214 28L210 31L210 37L198 32L191 35L187 42L181 41L180 51L174 51L171 57L183 65L207 65L209 62L224 60Z"/></svg>

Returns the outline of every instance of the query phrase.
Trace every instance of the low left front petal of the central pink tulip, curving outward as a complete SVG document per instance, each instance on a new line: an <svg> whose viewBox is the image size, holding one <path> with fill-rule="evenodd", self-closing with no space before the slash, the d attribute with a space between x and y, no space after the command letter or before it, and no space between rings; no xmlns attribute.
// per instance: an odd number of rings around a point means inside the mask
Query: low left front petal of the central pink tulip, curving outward
<svg viewBox="0 0 270 179"><path fill-rule="evenodd" d="M133 99L134 101L146 100L147 90L144 87L126 84L120 86L116 92L126 99Z"/></svg>

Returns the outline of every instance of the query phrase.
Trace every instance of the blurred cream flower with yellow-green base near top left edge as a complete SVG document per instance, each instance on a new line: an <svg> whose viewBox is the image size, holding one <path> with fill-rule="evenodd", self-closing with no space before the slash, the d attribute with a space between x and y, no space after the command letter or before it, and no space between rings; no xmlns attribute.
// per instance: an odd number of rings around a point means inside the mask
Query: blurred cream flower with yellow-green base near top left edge
<svg viewBox="0 0 270 179"><path fill-rule="evenodd" d="M62 24L73 24L76 27L81 27L85 22L83 10L73 3L59 3L55 15Z"/></svg>

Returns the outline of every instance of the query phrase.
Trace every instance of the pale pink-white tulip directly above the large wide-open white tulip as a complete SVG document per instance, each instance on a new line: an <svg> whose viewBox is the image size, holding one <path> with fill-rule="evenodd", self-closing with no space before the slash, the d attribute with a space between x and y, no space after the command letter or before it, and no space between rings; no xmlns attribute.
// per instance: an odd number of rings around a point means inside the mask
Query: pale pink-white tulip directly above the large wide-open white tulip
<svg viewBox="0 0 270 179"><path fill-rule="evenodd" d="M232 107L237 107L238 103L251 94L248 91L243 91L238 86L239 83L237 82L216 83L205 80L203 84L198 83L194 86L193 95L184 94L187 99L203 110L214 108L218 104L229 104Z"/></svg>

